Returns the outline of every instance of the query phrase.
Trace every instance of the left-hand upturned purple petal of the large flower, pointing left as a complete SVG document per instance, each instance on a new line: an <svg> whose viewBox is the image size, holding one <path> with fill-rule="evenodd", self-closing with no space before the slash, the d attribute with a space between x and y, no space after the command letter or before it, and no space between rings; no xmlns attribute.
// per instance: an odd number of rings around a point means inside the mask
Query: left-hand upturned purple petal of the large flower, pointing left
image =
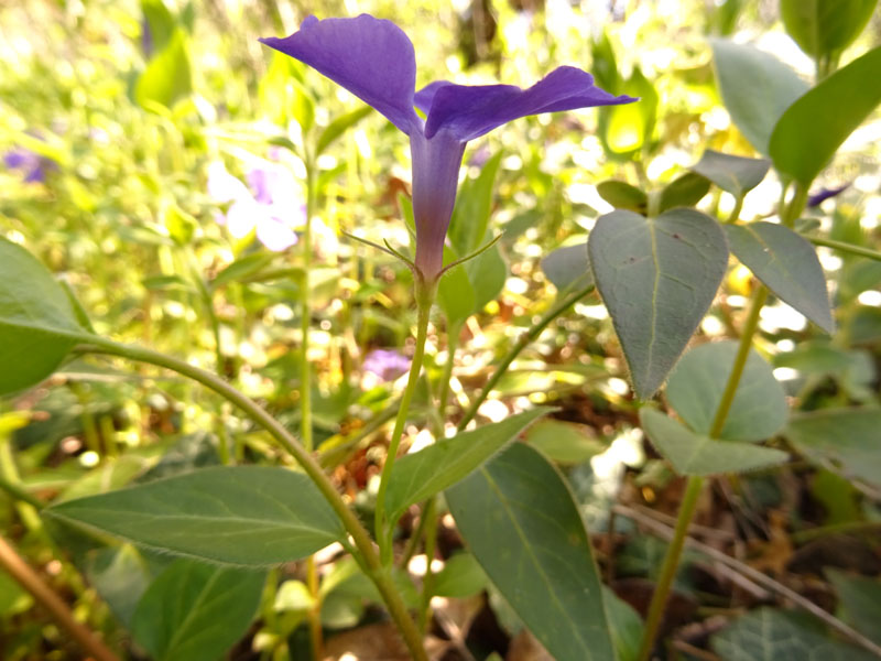
<svg viewBox="0 0 881 661"><path fill-rule="evenodd" d="M391 21L309 17L286 39L261 39L320 72L410 133L420 120L413 110L416 55L406 34Z"/></svg>

